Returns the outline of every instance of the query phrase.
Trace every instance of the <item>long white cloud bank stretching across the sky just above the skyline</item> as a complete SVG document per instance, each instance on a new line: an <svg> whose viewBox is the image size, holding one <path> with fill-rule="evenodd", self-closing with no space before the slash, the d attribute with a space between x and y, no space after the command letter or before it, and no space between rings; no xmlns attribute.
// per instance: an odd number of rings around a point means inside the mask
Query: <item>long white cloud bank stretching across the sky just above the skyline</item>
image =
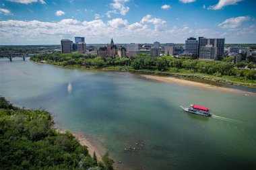
<svg viewBox="0 0 256 170"><path fill-rule="evenodd" d="M256 39L255 24L247 28L235 28L235 32L222 32L205 28L193 29L189 26L166 28L165 23L151 15L131 24L122 18L108 22L103 22L102 19L79 21L71 18L59 22L6 20L0 21L0 44L60 44L63 38L73 40L74 36L81 35L86 37L88 44L108 43L110 38L117 43L145 43L156 40L161 43L184 43L190 36L225 37L226 43L254 43Z"/></svg>

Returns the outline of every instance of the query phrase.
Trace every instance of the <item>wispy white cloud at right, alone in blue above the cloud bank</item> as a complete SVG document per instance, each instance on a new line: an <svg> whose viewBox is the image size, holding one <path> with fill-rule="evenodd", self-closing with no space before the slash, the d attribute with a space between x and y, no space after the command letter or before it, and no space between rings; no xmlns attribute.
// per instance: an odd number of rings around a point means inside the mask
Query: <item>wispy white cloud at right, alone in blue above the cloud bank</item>
<svg viewBox="0 0 256 170"><path fill-rule="evenodd" d="M241 17L230 17L226 19L224 22L218 24L220 28L237 28L241 26L243 22L249 21L251 18L249 16L241 16Z"/></svg>

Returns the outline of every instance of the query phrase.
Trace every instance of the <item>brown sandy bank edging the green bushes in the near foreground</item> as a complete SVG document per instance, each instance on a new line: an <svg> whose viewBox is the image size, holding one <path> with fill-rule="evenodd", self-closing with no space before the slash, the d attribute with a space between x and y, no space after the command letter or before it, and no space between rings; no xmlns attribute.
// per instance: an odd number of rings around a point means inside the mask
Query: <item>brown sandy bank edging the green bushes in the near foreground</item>
<svg viewBox="0 0 256 170"><path fill-rule="evenodd" d="M61 130L59 128L56 128L56 130L61 134L64 134L66 132L66 130ZM88 147L87 148L88 153L91 155L91 157L93 156L95 151L98 161L101 161L101 158L105 153L104 148L100 146L96 146L96 144L94 144L94 142L92 142L92 140L83 133L79 133L79 132L71 132L71 133L73 134L73 136L75 136L75 138L77 138L77 140L79 141L79 144Z"/></svg>

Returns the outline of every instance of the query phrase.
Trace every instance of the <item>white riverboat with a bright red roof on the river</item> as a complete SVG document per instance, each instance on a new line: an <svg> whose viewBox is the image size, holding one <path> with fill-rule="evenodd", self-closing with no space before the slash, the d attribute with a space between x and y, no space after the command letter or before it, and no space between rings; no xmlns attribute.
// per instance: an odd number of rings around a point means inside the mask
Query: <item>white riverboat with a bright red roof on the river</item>
<svg viewBox="0 0 256 170"><path fill-rule="evenodd" d="M203 107L201 105L195 105L195 104L191 104L188 107L184 108L181 105L181 108L183 108L183 110L185 112L189 112L191 114L199 114L201 116L211 116L210 115L210 110L209 108Z"/></svg>

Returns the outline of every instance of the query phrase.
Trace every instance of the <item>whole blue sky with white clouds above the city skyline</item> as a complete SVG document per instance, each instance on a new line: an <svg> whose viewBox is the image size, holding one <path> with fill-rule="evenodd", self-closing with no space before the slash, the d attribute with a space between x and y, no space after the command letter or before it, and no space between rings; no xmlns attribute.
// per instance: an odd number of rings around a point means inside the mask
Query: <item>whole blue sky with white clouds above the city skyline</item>
<svg viewBox="0 0 256 170"><path fill-rule="evenodd" d="M256 0L0 0L0 44L256 43Z"/></svg>

